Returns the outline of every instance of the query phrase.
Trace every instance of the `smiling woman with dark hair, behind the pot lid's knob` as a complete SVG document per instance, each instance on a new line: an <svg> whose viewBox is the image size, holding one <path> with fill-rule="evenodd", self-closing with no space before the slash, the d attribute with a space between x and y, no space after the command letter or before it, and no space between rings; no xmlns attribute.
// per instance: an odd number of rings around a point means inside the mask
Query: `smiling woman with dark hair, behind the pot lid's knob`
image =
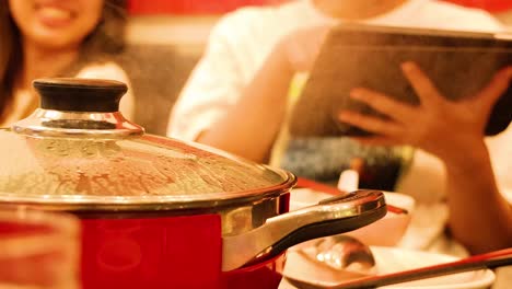
<svg viewBox="0 0 512 289"><path fill-rule="evenodd" d="M128 82L112 56L124 48L125 0L0 1L0 127L37 107L32 81L44 77ZM132 116L132 96L121 111Z"/></svg>

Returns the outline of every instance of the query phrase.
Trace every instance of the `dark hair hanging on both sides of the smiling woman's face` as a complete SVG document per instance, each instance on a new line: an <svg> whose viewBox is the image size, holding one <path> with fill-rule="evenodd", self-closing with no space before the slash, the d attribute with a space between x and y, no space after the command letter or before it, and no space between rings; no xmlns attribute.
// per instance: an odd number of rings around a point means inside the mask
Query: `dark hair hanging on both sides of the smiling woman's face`
<svg viewBox="0 0 512 289"><path fill-rule="evenodd" d="M61 74L78 72L91 61L102 61L125 47L126 0L105 0L102 18L80 48L79 58ZM13 85L23 63L20 30L11 16L8 0L0 0L0 122L12 102Z"/></svg>

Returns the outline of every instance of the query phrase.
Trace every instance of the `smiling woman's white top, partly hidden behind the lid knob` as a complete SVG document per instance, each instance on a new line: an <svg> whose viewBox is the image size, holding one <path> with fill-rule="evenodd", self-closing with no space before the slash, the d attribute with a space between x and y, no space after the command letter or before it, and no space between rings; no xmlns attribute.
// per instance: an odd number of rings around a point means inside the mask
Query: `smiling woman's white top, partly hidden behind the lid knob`
<svg viewBox="0 0 512 289"><path fill-rule="evenodd" d="M123 96L119 111L128 119L133 119L135 115L135 99L131 93L130 82L126 72L116 63L112 61L102 63L92 63L82 68L75 76L77 78L95 78L95 79L109 79L117 80L128 85L128 92ZM8 127L13 123L28 116L31 109L34 108L34 104L38 103L38 96L32 92L23 91L15 92L13 104L11 105L11 112L7 119L0 123L0 127Z"/></svg>

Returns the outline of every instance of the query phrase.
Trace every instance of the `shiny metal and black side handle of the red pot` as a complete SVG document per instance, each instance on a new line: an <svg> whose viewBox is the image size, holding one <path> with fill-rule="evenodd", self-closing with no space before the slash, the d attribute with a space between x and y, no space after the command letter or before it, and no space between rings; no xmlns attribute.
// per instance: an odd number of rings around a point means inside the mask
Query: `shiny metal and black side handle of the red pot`
<svg viewBox="0 0 512 289"><path fill-rule="evenodd" d="M222 239L222 270L271 258L304 241L356 230L386 212L382 192L360 189L269 218L255 230Z"/></svg>

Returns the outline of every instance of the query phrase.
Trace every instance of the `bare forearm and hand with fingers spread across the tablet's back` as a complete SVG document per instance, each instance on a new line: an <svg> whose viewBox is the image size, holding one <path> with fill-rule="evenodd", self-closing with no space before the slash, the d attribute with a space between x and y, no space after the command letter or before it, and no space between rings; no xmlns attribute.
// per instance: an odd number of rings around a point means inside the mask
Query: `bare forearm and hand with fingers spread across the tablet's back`
<svg viewBox="0 0 512 289"><path fill-rule="evenodd" d="M362 142L412 144L435 154L446 167L453 236L472 253L511 246L512 209L496 184L484 131L493 104L512 79L512 68L498 72L474 97L458 102L441 95L416 65L405 63L404 73L420 99L419 106L356 89L353 99L389 119L342 112L340 120L377 134L359 139Z"/></svg>

